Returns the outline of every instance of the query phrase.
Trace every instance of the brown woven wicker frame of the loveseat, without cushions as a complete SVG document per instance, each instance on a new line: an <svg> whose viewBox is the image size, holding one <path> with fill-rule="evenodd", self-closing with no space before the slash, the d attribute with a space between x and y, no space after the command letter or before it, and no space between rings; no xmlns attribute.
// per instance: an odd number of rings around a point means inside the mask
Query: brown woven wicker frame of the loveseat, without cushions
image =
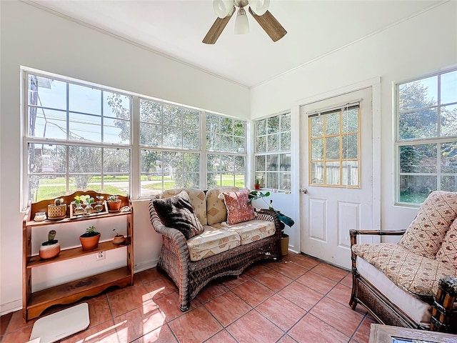
<svg viewBox="0 0 457 343"><path fill-rule="evenodd" d="M173 279L179 289L181 311L189 309L192 299L211 280L226 275L239 275L246 267L261 259L282 259L281 222L273 211L256 209L256 219L274 222L273 236L256 242L240 245L226 252L193 262L184 234L177 229L164 226L156 213L154 204L149 202L151 224L162 235L162 248L158 267Z"/></svg>

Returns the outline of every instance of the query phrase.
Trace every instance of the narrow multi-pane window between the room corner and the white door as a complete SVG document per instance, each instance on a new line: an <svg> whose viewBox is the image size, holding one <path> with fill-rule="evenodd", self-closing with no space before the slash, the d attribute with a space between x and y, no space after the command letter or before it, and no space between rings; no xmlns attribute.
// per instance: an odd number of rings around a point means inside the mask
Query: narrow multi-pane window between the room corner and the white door
<svg viewBox="0 0 457 343"><path fill-rule="evenodd" d="M291 190L291 114L256 120L256 181L262 188Z"/></svg>

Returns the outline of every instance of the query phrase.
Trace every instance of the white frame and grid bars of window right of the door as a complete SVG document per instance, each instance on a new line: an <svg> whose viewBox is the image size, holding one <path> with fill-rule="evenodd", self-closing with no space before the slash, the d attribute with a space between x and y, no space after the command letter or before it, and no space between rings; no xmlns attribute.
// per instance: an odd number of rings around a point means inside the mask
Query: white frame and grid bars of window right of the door
<svg viewBox="0 0 457 343"><path fill-rule="evenodd" d="M394 144L393 144L393 154L395 156L395 192L394 192L394 202L393 204L398 207L412 207L412 208L418 208L421 206L421 203L417 202L402 202L401 201L401 179L403 176L425 176L425 177L436 177L436 187L434 190L441 190L441 177L443 174L450 174L450 173L443 173L441 172L441 164L440 164L440 159L441 159L441 152L439 146L440 144L446 144L446 143L452 143L454 141L457 141L457 134L450 135L450 136L443 136L441 134L441 107L443 106L457 106L457 99L456 101L451 101L447 103L441 102L441 76L443 74L448 74L451 72L457 71L457 68L452 68L452 69L445 69L442 71L436 71L431 74L425 74L422 76L417 76L413 77L411 79L406 79L402 81L396 81L393 83L393 113L394 113L394 118L395 121L393 123L394 126L394 134L395 134L395 139L394 139ZM422 81L426 80L428 78L431 78L433 76L438 77L437 81L437 99L436 99L436 105L433 106L422 106L422 107L415 107L413 109L407 109L407 110L400 110L400 86L405 85L405 84L410 84L414 81ZM431 136L431 137L425 137L425 138L410 138L410 139L401 139L400 134L401 134L401 127L400 127L400 116L402 113L407 113L409 111L414 112L418 110L424 110L424 109L433 109L436 108L436 136ZM436 144L436 172L433 173L421 173L421 172L401 172L401 147L403 146L418 146L418 145L426 145L426 144ZM452 174L452 173L451 173Z"/></svg>

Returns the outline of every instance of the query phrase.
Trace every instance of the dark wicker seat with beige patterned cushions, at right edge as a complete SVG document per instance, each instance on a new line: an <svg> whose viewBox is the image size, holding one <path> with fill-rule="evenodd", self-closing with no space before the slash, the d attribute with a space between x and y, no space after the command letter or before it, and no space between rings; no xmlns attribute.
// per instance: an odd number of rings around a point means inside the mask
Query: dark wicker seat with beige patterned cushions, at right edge
<svg viewBox="0 0 457 343"><path fill-rule="evenodd" d="M457 193L436 191L406 231L351 230L352 309L363 305L381 324L456 333L456 217ZM357 244L360 234L401 239Z"/></svg>

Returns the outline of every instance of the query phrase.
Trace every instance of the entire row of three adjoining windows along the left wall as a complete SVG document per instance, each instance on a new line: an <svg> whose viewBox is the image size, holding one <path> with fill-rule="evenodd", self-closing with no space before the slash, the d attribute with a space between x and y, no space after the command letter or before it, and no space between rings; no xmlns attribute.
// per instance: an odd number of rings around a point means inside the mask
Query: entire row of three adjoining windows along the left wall
<svg viewBox="0 0 457 343"><path fill-rule="evenodd" d="M177 187L244 187L246 121L24 74L24 206L76 189L138 199Z"/></svg>

